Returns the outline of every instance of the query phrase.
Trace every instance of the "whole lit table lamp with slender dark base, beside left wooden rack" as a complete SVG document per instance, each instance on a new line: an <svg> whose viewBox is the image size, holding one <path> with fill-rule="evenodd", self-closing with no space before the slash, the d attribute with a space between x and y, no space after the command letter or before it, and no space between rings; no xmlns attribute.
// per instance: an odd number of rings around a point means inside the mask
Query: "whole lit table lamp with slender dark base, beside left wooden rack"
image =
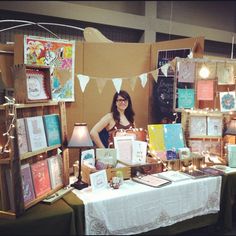
<svg viewBox="0 0 236 236"><path fill-rule="evenodd" d="M79 174L78 180L71 184L76 189L83 189L88 187L88 184L82 181L81 176L81 150L83 148L93 147L93 142L90 138L88 127L86 123L75 123L71 139L68 143L68 148L79 149Z"/></svg>

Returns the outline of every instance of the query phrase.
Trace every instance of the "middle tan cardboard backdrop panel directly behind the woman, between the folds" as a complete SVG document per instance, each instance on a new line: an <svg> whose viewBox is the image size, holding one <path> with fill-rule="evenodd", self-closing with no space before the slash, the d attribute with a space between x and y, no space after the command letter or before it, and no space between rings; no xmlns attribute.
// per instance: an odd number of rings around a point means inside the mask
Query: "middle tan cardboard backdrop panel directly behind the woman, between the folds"
<svg viewBox="0 0 236 236"><path fill-rule="evenodd" d="M84 68L82 73L99 78L130 78L134 75L150 71L150 44L140 43L84 43ZM126 90L132 99L136 113L137 127L147 127L149 83L145 88L137 78L134 91L130 87L130 79L122 80L121 89ZM77 88L77 87L76 87ZM83 121L89 128L110 111L111 102L116 92L112 80L108 80L100 94L96 79L92 79L82 96ZM79 88L79 94L81 90ZM142 109L140 109L142 108Z"/></svg>

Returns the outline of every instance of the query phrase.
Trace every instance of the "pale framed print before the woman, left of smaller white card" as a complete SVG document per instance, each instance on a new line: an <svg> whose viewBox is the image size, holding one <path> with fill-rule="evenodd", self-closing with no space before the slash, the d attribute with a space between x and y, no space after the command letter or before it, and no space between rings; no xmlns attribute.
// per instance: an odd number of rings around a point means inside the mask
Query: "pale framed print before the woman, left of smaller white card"
<svg viewBox="0 0 236 236"><path fill-rule="evenodd" d="M117 160L120 162L132 163L132 142L134 136L114 137L114 147L117 149Z"/></svg>

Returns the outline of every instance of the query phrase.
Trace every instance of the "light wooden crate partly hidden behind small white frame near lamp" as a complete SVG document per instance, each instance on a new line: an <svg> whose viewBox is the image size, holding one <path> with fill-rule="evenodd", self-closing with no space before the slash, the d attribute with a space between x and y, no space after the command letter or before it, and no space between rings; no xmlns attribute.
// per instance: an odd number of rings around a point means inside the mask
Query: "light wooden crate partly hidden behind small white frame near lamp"
<svg viewBox="0 0 236 236"><path fill-rule="evenodd" d="M82 180L85 183L90 185L90 177L89 177L90 174L95 173L99 170L97 170L95 167L89 167L83 164L81 165L81 169L82 169L82 173L81 173ZM117 171L122 171L124 179L131 178L131 168L129 166L120 167L120 168L108 168L106 169L108 181L110 181L113 176L116 176Z"/></svg>

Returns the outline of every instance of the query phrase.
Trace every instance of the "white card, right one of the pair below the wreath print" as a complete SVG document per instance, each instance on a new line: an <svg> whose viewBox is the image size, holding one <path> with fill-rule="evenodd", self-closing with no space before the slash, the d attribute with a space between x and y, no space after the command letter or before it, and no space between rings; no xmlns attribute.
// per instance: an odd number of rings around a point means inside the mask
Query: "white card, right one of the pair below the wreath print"
<svg viewBox="0 0 236 236"><path fill-rule="evenodd" d="M222 117L207 117L207 135L222 136L223 118Z"/></svg>

